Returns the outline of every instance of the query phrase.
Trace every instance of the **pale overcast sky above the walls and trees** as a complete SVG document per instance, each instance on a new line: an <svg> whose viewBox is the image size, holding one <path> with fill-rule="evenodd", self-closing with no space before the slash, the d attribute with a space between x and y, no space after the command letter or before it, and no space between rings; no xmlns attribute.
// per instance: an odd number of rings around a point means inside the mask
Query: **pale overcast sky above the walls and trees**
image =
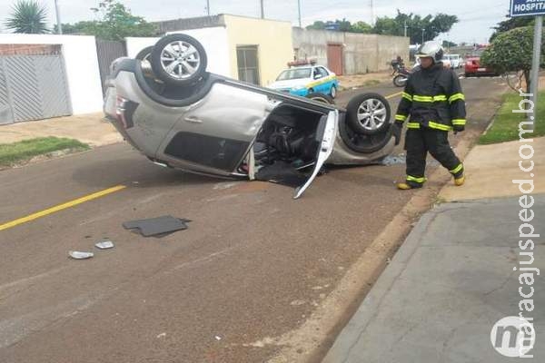
<svg viewBox="0 0 545 363"><path fill-rule="evenodd" d="M49 10L50 24L54 22L54 0L38 0ZM215 14L260 16L260 0L209 0L210 11ZM16 0L0 0L0 30L5 31L5 17L11 12ZM93 20L89 10L99 0L58 0L63 23ZM263 0L265 17L291 21L298 25L297 0ZM179 17L206 15L206 0L122 0L134 15L144 16L148 21L168 20ZM372 11L372 4L373 11ZM448 38L456 43L485 43L492 26L504 20L509 11L510 0L301 0L302 25L315 20L346 18L351 22L371 23L375 16L395 16L396 9L403 13L435 15L446 13L458 15L460 23L454 25ZM441 34L446 39L447 34Z"/></svg>

